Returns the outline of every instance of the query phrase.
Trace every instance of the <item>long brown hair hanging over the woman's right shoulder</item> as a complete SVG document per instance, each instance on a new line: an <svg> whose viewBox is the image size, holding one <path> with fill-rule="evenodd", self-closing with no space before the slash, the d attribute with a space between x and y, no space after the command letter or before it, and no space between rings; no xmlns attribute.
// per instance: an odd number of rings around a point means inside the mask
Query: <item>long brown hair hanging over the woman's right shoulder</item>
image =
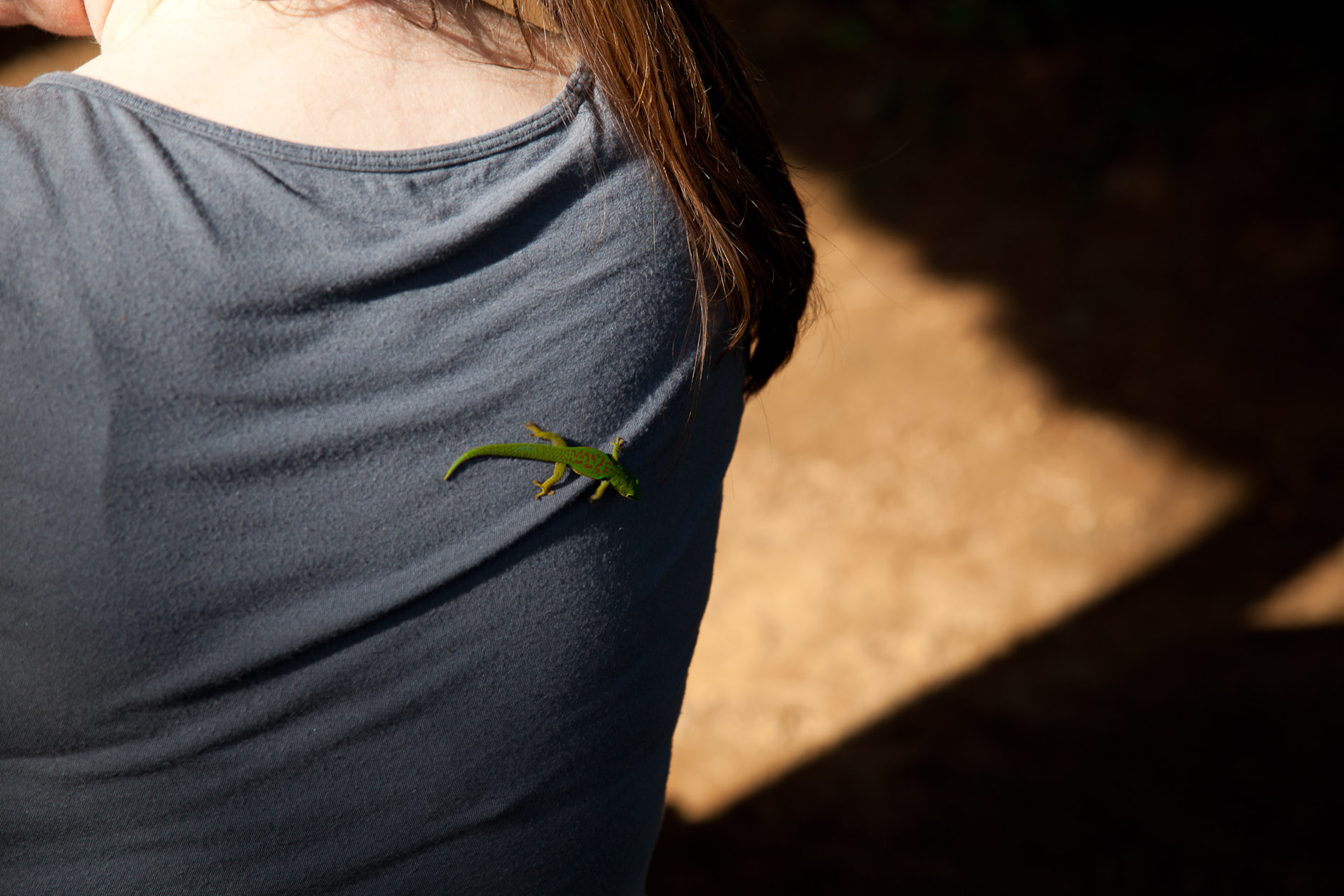
<svg viewBox="0 0 1344 896"><path fill-rule="evenodd" d="M414 7L426 0L378 1L423 23ZM761 391L798 340L814 254L737 43L703 0L531 0L521 9L515 0L487 1L558 30L591 69L681 214L696 274L700 361L714 305L723 302L727 348L749 352L743 390ZM427 3L433 28L449 0Z"/></svg>

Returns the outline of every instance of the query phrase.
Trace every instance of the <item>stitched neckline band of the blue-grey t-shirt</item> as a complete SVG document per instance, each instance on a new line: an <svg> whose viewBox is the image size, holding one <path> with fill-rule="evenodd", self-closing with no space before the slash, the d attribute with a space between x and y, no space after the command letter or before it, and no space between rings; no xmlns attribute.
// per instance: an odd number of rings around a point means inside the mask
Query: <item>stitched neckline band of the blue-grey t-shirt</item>
<svg viewBox="0 0 1344 896"><path fill-rule="evenodd" d="M581 109L593 99L593 74L582 62L578 63L564 87L550 102L531 116L496 130L437 146L391 150L341 149L267 137L210 121L208 118L165 106L129 90L122 90L108 82L69 71L42 75L34 79L30 87L77 90L85 95L128 109L142 118L152 118L179 130L194 133L250 154L267 156L317 168L409 172L478 161L488 156L521 146L556 128L567 126L579 114Z"/></svg>

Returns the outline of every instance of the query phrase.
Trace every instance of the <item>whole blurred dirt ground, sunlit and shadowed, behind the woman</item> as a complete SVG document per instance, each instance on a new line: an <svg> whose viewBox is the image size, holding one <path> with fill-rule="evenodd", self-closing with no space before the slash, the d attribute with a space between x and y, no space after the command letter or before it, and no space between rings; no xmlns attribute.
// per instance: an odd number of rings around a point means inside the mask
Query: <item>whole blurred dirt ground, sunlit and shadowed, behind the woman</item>
<svg viewBox="0 0 1344 896"><path fill-rule="evenodd" d="M828 308L747 408L649 892L1344 892L1339 13L715 7Z"/></svg>

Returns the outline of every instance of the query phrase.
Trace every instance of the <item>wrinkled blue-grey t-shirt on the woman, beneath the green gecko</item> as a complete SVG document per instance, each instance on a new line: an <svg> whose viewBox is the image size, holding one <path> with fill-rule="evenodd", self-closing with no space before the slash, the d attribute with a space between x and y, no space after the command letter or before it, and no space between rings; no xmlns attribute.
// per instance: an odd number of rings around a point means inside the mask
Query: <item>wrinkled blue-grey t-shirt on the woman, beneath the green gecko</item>
<svg viewBox="0 0 1344 896"><path fill-rule="evenodd" d="M0 200L0 893L640 893L742 364L587 70L407 152L47 75ZM442 481L528 420L641 500Z"/></svg>

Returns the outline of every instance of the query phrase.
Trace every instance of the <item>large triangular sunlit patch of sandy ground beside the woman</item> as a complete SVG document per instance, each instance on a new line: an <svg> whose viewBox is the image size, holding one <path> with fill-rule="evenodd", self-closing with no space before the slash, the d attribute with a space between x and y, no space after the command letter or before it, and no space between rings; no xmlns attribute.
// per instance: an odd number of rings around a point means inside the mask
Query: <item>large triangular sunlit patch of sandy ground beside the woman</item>
<svg viewBox="0 0 1344 896"><path fill-rule="evenodd" d="M991 286L801 180L828 313L749 404L668 797L712 815L1179 551L1243 485L1066 407Z"/></svg>

